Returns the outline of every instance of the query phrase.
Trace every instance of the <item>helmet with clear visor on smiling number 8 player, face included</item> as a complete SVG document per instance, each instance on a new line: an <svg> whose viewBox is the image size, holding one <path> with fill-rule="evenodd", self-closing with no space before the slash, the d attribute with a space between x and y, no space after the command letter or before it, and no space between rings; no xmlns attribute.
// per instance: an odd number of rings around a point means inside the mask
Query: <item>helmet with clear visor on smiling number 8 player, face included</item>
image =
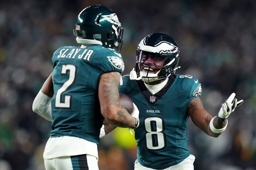
<svg viewBox="0 0 256 170"><path fill-rule="evenodd" d="M180 48L173 38L164 33L148 35L136 51L135 71L139 78L145 82L152 82L169 78L180 67ZM133 76L134 77L134 76Z"/></svg>

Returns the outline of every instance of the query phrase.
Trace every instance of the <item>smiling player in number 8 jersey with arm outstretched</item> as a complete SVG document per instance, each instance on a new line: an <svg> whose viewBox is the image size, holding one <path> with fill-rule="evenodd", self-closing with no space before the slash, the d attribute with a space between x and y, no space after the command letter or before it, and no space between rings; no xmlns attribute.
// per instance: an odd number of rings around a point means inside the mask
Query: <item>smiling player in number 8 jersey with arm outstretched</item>
<svg viewBox="0 0 256 170"><path fill-rule="evenodd" d="M199 98L199 80L175 74L179 59L180 49L172 37L148 35L138 46L135 70L123 77L119 87L140 111L140 125L134 129L135 170L193 170L195 156L189 153L186 137L188 118L207 135L218 137L227 127L228 116L243 102L232 93L212 117ZM106 134L115 128L104 125Z"/></svg>

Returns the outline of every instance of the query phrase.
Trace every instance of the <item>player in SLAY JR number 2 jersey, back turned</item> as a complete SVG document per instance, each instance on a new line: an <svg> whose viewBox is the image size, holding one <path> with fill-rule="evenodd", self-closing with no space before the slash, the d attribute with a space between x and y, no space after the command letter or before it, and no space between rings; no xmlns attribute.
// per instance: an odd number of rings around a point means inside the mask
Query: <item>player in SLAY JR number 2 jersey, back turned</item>
<svg viewBox="0 0 256 170"><path fill-rule="evenodd" d="M74 34L81 46L63 46L53 53L52 74L32 106L52 121L44 150L46 170L98 170L104 118L118 127L139 125L136 106L130 115L119 103L123 28L116 14L106 6L89 6L79 13Z"/></svg>

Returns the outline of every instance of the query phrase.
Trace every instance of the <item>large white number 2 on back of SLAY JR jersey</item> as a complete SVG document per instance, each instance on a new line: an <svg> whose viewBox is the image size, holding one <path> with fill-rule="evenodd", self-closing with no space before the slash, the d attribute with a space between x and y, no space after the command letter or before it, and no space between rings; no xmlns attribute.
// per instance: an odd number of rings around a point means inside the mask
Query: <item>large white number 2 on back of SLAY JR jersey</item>
<svg viewBox="0 0 256 170"><path fill-rule="evenodd" d="M64 101L61 101L61 95L66 92L68 88L74 83L76 78L76 66L73 64L63 64L61 68L61 75L67 75L69 71L68 80L63 83L56 93L55 108L70 109L71 108L71 95L64 95Z"/></svg>

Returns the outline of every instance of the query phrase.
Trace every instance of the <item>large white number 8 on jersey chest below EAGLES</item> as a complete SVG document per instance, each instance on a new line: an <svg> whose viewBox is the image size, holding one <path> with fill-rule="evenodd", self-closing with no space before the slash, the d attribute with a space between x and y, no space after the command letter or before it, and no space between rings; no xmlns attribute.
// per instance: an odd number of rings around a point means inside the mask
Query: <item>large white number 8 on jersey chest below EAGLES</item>
<svg viewBox="0 0 256 170"><path fill-rule="evenodd" d="M146 129L146 146L149 150L161 150L166 145L164 120L160 117L147 117L144 120Z"/></svg>

